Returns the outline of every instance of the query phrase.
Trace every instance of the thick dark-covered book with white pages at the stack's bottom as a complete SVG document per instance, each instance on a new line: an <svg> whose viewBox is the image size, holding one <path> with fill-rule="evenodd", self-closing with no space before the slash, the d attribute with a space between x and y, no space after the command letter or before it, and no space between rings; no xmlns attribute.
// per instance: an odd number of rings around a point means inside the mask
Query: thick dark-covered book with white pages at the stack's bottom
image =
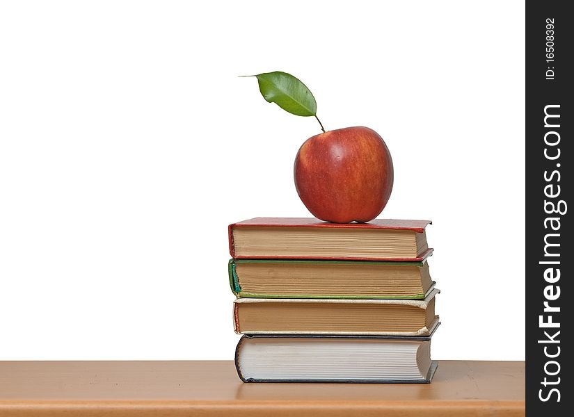
<svg viewBox="0 0 574 417"><path fill-rule="evenodd" d="M438 366L430 342L439 324L428 336L244 335L235 368L243 382L428 384Z"/></svg>

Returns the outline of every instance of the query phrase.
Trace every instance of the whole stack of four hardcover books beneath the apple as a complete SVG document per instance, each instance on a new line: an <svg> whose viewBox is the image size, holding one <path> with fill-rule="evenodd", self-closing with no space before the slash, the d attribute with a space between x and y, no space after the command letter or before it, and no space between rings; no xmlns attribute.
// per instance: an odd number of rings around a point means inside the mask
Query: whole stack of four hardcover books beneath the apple
<svg viewBox="0 0 574 417"><path fill-rule="evenodd" d="M426 220L230 224L244 382L430 382L438 290Z"/></svg>

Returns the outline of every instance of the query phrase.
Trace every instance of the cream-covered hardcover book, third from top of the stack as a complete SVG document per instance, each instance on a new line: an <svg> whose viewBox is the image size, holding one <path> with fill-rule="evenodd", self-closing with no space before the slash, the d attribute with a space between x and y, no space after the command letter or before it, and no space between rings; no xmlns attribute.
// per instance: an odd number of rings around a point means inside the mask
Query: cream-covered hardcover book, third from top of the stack
<svg viewBox="0 0 574 417"><path fill-rule="evenodd" d="M244 334L428 336L438 323L433 289L424 300L238 298L234 329Z"/></svg>

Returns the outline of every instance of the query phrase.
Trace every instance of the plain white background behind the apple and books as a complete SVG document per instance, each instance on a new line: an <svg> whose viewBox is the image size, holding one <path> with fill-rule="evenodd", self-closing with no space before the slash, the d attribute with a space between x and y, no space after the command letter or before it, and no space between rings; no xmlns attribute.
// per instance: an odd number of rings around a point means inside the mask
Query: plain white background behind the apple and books
<svg viewBox="0 0 574 417"><path fill-rule="evenodd" d="M0 359L232 358L228 223L309 215L273 70L433 220L433 358L524 359L524 58L520 1L2 2Z"/></svg>

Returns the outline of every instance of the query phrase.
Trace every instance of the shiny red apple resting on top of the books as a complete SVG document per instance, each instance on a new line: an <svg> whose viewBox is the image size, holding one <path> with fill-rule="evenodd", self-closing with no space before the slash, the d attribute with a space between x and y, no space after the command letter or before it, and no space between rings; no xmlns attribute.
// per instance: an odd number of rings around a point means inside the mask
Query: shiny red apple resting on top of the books
<svg viewBox="0 0 574 417"><path fill-rule="evenodd" d="M301 201L316 218L368 222L389 200L392 159L376 131L347 127L305 140L295 158L294 176Z"/></svg>

